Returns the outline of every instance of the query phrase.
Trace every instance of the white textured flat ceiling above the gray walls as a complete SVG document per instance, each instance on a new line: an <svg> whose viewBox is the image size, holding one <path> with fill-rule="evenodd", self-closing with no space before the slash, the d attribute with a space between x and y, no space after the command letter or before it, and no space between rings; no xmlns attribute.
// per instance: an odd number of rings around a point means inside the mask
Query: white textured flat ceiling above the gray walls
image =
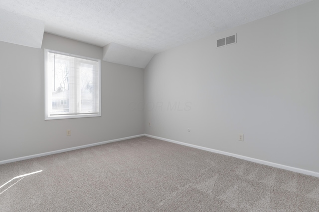
<svg viewBox="0 0 319 212"><path fill-rule="evenodd" d="M159 53L309 1L0 0L0 9L43 20L48 33Z"/></svg>

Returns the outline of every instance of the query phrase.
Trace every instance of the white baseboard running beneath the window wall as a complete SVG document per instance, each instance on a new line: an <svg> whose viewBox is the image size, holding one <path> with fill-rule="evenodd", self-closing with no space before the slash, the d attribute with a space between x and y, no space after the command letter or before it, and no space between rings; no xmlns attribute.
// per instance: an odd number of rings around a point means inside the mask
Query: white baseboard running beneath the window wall
<svg viewBox="0 0 319 212"><path fill-rule="evenodd" d="M42 156L46 156L46 155L50 155L50 154L57 154L57 153L61 153L61 152L72 151L72 150L75 150L75 149L86 148L86 147L90 147L90 146L102 145L102 144L105 144L105 143L112 143L112 142L116 142L116 141L134 139L134 138L138 138L138 137L142 137L142 136L145 136L145 134L137 135L137 136L130 136L130 137L121 138L121 139L114 139L114 140L110 140L110 141L102 141L102 142L97 142L97 143L91 143L91 144L82 145L82 146L75 146L75 147L71 147L71 148L65 148L65 149L60 149L60 150L55 150L55 151L49 151L49 152L44 152L44 153L40 153L40 154L33 154L33 155L29 155L29 156L18 157L18 158L13 158L13 159L8 159L8 160L2 160L2 161L0 161L0 165L1 164L5 164L5 163L16 162L16 161L19 161L19 160L26 160L26 159L31 159L31 158L35 158L35 157L42 157Z"/></svg>

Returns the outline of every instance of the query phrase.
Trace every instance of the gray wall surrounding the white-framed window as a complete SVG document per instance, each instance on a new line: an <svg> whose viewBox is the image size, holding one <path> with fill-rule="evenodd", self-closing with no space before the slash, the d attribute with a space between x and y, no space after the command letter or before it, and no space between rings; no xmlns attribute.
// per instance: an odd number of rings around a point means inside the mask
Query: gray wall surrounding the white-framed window
<svg viewBox="0 0 319 212"><path fill-rule="evenodd" d="M102 48L44 33L42 49L0 42L0 161L144 134L144 70L101 62L102 117L44 121L44 48L102 59ZM66 130L72 136L66 136Z"/></svg>

